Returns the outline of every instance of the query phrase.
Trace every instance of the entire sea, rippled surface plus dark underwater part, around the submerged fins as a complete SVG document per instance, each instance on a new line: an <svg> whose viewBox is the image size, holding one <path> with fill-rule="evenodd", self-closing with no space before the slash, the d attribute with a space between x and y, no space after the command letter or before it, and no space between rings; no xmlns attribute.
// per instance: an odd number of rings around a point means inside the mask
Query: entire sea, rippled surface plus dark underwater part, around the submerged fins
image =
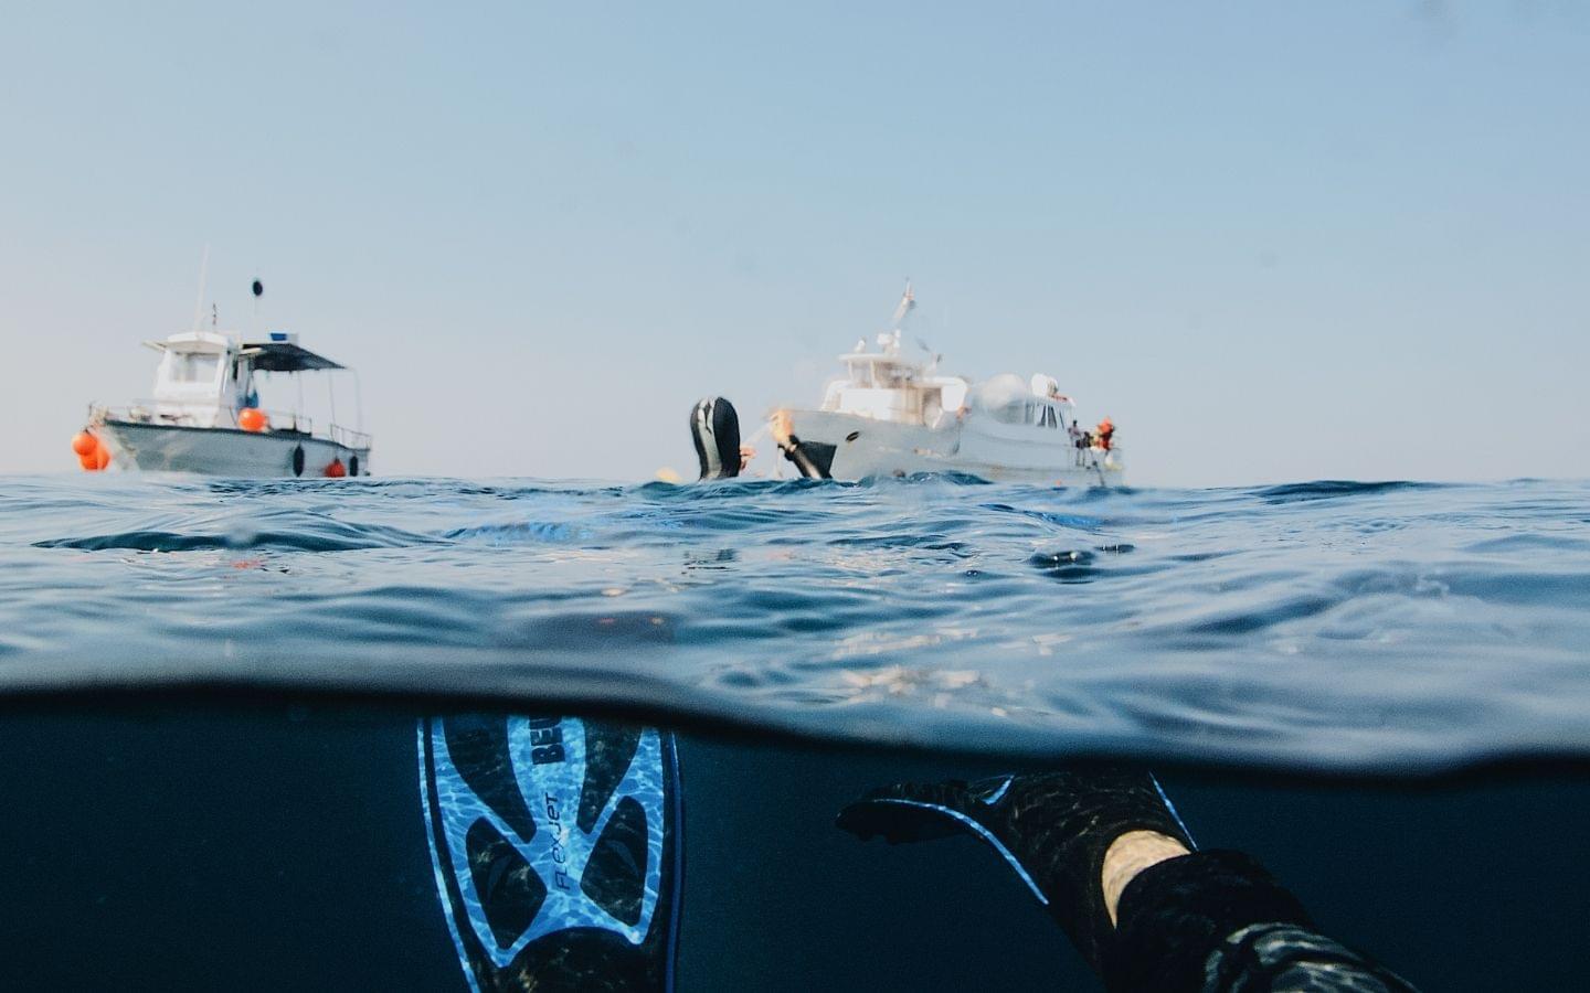
<svg viewBox="0 0 1590 993"><path fill-rule="evenodd" d="M1585 483L0 483L8 985L466 988L417 729L480 709L669 732L684 990L1096 988L833 825L1081 758L1423 988L1582 985Z"/></svg>

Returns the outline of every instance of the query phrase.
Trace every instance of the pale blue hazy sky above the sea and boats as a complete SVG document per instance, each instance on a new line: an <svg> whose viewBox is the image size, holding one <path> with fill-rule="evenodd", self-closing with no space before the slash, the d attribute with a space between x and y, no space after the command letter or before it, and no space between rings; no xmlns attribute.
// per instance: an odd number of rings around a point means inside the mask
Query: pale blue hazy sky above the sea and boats
<svg viewBox="0 0 1590 993"><path fill-rule="evenodd" d="M1137 485L1590 475L1587 5L5 21L0 473L148 396L208 246L223 326L358 367L378 475L687 470L696 397L816 404L908 276Z"/></svg>

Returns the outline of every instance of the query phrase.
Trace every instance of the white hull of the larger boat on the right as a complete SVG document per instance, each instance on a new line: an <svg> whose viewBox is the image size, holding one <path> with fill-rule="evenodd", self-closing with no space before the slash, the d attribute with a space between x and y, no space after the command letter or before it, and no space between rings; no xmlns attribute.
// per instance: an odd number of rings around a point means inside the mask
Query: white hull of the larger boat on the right
<svg viewBox="0 0 1590 993"><path fill-rule="evenodd" d="M991 481L1046 486L1123 486L1124 467L1102 451L1078 450L1064 432L995 424L970 415L940 427L851 413L792 410L801 442L833 446L830 475L860 480L916 472L965 472ZM1038 434L1037 439L1032 435Z"/></svg>

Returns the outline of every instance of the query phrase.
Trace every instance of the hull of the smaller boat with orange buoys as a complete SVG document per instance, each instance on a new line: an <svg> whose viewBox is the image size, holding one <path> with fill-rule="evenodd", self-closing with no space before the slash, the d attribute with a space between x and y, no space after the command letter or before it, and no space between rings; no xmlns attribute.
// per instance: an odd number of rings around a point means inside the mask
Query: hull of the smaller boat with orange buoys
<svg viewBox="0 0 1590 993"><path fill-rule="evenodd" d="M223 477L324 477L340 461L347 475L370 473L370 450L307 434L251 432L105 419L99 426L111 459L124 469ZM302 469L296 453L302 451Z"/></svg>

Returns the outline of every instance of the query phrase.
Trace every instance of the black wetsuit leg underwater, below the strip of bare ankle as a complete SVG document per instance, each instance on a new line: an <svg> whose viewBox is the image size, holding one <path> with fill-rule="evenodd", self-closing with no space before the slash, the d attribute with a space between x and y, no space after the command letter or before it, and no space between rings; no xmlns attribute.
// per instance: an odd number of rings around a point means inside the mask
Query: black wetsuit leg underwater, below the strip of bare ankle
<svg viewBox="0 0 1590 993"><path fill-rule="evenodd" d="M1320 934L1253 858L1197 852L1145 869L1121 894L1105 987L1237 993L1414 987Z"/></svg>

